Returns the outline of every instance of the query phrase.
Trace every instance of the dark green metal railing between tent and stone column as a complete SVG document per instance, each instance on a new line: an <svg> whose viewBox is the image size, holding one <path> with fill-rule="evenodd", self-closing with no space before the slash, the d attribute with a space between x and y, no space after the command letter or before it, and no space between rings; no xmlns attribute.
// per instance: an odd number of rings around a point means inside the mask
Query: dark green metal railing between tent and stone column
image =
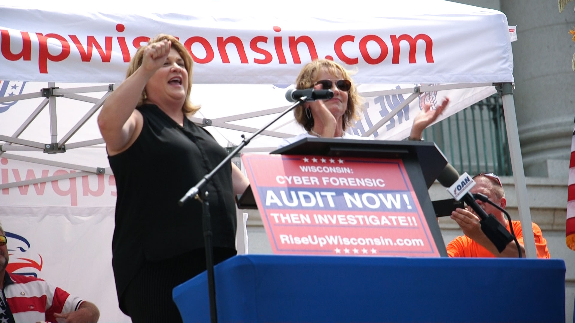
<svg viewBox="0 0 575 323"><path fill-rule="evenodd" d="M499 94L425 129L423 137L435 141L460 174L493 172L512 175L503 103Z"/></svg>

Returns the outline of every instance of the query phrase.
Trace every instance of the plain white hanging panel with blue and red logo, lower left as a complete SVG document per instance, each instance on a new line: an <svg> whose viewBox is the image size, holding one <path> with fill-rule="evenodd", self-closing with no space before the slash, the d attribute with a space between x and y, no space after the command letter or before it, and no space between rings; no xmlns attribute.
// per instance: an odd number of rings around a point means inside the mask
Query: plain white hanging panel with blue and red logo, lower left
<svg viewBox="0 0 575 323"><path fill-rule="evenodd" d="M99 322L121 313L112 273L114 207L0 206L8 237L7 271L36 275L95 303Z"/></svg>

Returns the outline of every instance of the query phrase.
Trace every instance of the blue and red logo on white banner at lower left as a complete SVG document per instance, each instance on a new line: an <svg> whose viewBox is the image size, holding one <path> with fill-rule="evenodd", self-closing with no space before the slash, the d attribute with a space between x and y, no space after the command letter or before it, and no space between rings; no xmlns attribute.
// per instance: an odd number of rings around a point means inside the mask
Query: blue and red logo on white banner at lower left
<svg viewBox="0 0 575 323"><path fill-rule="evenodd" d="M28 239L18 234L6 232L9 262L7 272L38 277L43 260L39 253L30 252Z"/></svg>

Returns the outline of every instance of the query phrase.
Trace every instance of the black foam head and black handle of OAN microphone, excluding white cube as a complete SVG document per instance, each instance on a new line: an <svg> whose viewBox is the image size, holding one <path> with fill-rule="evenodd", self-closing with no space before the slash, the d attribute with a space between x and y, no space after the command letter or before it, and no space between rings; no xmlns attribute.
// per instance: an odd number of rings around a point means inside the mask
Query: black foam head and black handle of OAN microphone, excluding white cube
<svg viewBox="0 0 575 323"><path fill-rule="evenodd" d="M445 187L450 187L459 179L459 174L451 164L447 164L443 171L439 174L437 180L440 184ZM467 205L471 207L477 213L477 216L481 218L479 221L481 225L481 230L485 233L485 236L495 245L497 251L503 251L507 245L513 241L513 236L501 222L493 216L493 214L487 214L484 209L481 208L475 201L475 198L470 193L466 193L461 198ZM511 224L510 224L511 225Z"/></svg>

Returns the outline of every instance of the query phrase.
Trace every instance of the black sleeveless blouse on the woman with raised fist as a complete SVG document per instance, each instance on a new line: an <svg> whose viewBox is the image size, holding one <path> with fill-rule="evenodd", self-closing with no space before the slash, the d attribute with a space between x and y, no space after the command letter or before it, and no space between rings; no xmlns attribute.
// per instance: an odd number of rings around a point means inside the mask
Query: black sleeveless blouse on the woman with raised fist
<svg viewBox="0 0 575 323"><path fill-rule="evenodd" d="M192 199L180 207L178 199L227 155L206 130L187 118L180 126L156 105L137 110L144 118L140 136L126 151L108 156L118 191L112 239L118 295L144 259L168 259L204 247L201 203ZM228 164L205 189L213 246L235 249L231 171Z"/></svg>

